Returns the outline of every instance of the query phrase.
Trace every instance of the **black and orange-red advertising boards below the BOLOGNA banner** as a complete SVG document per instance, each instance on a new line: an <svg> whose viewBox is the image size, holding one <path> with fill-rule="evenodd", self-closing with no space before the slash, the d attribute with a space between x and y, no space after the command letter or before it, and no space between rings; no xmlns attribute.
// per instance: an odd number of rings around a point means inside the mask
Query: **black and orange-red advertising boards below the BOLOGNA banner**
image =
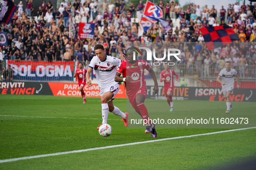
<svg viewBox="0 0 256 170"><path fill-rule="evenodd" d="M126 98L123 85L115 98ZM93 84L92 87L85 85L86 97L101 97L100 87ZM27 94L27 95L54 95L81 97L78 83L58 83L58 82L0 82L0 94Z"/></svg>

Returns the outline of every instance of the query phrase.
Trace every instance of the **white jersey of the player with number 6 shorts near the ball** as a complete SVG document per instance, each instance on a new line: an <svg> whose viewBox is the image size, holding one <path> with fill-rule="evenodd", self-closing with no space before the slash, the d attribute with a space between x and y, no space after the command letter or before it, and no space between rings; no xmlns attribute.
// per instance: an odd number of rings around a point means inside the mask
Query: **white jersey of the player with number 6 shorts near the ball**
<svg viewBox="0 0 256 170"><path fill-rule="evenodd" d="M104 88L109 85L118 84L115 82L115 76L117 72L117 66L121 63L121 60L112 56L107 56L104 61L100 61L97 56L91 59L89 67L96 72L97 84L99 87Z"/></svg>

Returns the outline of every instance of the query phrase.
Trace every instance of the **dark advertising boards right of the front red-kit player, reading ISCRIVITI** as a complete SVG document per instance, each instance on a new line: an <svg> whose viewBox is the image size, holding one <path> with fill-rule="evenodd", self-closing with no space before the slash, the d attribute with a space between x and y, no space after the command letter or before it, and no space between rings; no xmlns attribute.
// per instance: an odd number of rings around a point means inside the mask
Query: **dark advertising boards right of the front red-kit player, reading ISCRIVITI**
<svg viewBox="0 0 256 170"><path fill-rule="evenodd" d="M153 92L154 86L147 86L147 98L166 99L164 87L159 86L157 95ZM256 101L256 89L235 88L230 95L231 101ZM173 100L204 100L204 101L226 101L221 88L202 87L174 87L172 92Z"/></svg>

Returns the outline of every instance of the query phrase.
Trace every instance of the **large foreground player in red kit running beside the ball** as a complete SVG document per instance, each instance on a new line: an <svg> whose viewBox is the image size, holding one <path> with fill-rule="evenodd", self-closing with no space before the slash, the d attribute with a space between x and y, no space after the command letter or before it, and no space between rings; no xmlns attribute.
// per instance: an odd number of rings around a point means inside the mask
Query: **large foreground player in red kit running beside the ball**
<svg viewBox="0 0 256 170"><path fill-rule="evenodd" d="M136 55L135 60L133 60L134 51ZM130 47L126 50L124 57L127 57L127 59L123 60L117 68L115 81L124 82L130 103L135 111L143 118L144 123L146 123L145 133L151 133L152 137L156 138L157 134L155 124L149 121L149 113L144 105L144 101L147 96L147 87L143 70L147 69L154 80L155 86L153 91L155 91L155 94L158 93L158 83L156 80L156 74L153 69L150 68L149 64L144 60L137 60L137 51L140 52L136 47ZM123 74L123 77L120 77L121 74Z"/></svg>

